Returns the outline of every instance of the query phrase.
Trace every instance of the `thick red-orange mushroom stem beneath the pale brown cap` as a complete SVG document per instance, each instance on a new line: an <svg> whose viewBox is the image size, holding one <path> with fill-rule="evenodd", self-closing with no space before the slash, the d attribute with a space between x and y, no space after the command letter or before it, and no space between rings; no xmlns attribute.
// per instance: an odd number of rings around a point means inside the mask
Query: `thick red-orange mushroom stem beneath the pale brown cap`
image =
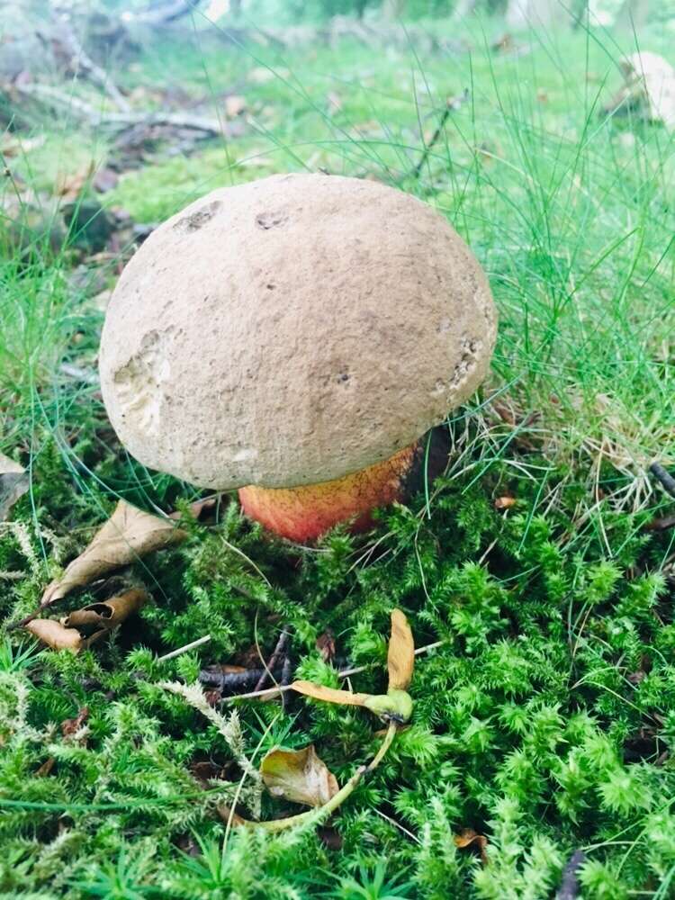
<svg viewBox="0 0 675 900"><path fill-rule="evenodd" d="M373 510L403 503L432 481L447 463L446 428L433 428L427 435L382 463L343 478L297 488L260 488L250 484L239 489L239 501L248 517L275 534L305 544L315 541L340 522L350 522L350 531L373 526Z"/></svg>

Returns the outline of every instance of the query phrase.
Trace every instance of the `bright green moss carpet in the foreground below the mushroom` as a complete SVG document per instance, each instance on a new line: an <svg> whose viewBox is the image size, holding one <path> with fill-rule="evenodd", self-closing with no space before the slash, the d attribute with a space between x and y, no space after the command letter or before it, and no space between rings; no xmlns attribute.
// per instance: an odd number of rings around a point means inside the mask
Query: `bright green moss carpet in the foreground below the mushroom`
<svg viewBox="0 0 675 900"><path fill-rule="evenodd" d="M64 482L59 460L49 449L40 456L37 518L22 500L0 538L0 568L25 573L8 582L5 617L34 602L44 581L40 523L52 529L48 556L66 540L72 554L89 536L66 538L68 491L43 481ZM226 499L217 525L195 525L186 545L139 564L154 603L111 644L22 657L13 637L0 654L4 896L85 897L93 886L120 897L327 896L336 887L357 896L382 883L410 897L536 898L551 896L580 848L584 896L667 883L675 626L657 571L666 540L641 530L647 513L602 509L601 539L579 544L574 489L563 484L544 518L532 515L530 484L495 464L481 482L437 482L429 504L420 496L384 512L373 536L338 530L316 550L276 542ZM517 499L507 512L494 508L498 486ZM84 521L94 525L106 504ZM365 666L354 689L381 690L394 606L418 647L442 643L419 654L412 724L334 822L341 848L325 833L235 830L221 853L218 808L238 785L236 753L158 682L193 682L211 662L246 664L290 626L302 675L329 683L348 662ZM316 647L327 631L332 665ZM157 662L204 634L211 643L198 652ZM85 706L85 733L64 736L59 723ZM299 698L285 710L233 708L220 716L250 758L312 742L338 780L377 741L359 709ZM214 776L206 784L194 769L204 761ZM264 800L263 815L279 811ZM465 828L487 837L488 865L455 846Z"/></svg>

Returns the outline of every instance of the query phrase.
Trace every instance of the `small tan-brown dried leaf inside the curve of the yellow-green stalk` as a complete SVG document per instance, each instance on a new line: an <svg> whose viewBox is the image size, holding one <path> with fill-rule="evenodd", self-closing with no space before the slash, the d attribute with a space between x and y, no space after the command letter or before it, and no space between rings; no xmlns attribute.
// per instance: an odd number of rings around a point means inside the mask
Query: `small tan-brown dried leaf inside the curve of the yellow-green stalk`
<svg viewBox="0 0 675 900"><path fill-rule="evenodd" d="M324 806L338 793L337 779L313 744L302 750L275 747L260 763L260 774L273 797L284 797L292 803Z"/></svg>

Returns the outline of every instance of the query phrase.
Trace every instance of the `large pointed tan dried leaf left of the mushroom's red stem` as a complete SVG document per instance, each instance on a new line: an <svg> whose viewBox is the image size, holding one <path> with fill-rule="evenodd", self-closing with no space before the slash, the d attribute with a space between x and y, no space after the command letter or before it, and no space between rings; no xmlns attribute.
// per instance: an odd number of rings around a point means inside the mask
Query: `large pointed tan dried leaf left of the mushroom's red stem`
<svg viewBox="0 0 675 900"><path fill-rule="evenodd" d="M120 500L112 518L96 532L84 552L67 566L57 581L52 581L40 601L40 608L65 597L74 588L83 587L113 569L129 565L139 558L175 544L185 532L168 518L158 518Z"/></svg>

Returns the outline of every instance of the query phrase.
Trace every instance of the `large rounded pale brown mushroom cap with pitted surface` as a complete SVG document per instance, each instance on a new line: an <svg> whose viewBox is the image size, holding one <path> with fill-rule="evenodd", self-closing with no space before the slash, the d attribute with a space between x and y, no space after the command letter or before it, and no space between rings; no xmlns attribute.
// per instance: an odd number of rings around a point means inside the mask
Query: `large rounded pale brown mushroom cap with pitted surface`
<svg viewBox="0 0 675 900"><path fill-rule="evenodd" d="M490 365L481 267L425 203L337 175L222 188L157 228L108 307L103 400L143 464L294 487L392 456Z"/></svg>

